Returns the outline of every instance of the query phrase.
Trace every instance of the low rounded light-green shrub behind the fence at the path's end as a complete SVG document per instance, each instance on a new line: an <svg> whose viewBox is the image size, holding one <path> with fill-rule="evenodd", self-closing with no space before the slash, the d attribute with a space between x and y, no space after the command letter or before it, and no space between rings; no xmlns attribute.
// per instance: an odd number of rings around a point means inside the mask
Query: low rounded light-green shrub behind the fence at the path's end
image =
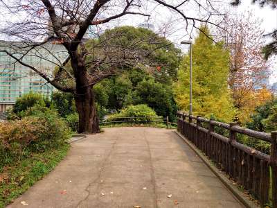
<svg viewBox="0 0 277 208"><path fill-rule="evenodd" d="M122 117L138 117L135 119L136 121L147 121L149 117L157 117L156 112L152 110L151 107L148 105L141 104L141 105L129 105L128 107L120 110L120 112L111 114L109 119L112 121L121 121Z"/></svg>

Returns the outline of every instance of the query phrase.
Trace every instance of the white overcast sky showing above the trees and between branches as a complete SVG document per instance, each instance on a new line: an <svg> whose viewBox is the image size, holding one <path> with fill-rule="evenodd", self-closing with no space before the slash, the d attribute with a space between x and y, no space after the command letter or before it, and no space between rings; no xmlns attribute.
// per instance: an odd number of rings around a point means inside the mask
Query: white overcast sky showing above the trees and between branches
<svg viewBox="0 0 277 208"><path fill-rule="evenodd" d="M8 0L7 0L8 1ZM168 0L170 1L170 0ZM168 2L166 1L166 2ZM172 0L172 2L175 2L176 0ZM199 0L200 2L202 2L202 0ZM224 12L226 10L228 10L229 12L233 13L233 12L247 12L248 10L251 10L253 13L254 17L259 17L260 19L262 19L262 28L265 29L266 33L270 33L271 31L274 30L274 28L277 28L277 10L272 10L269 6L266 6L265 8L260 8L260 6L258 4L253 4L251 3L251 0L242 0L242 4L240 6L237 7L233 7L230 5L230 1L231 0L223 0L222 1L215 1L213 0L213 2L217 2L215 3L215 7L217 7L218 10ZM176 19L179 18L177 17L177 13L172 13L168 10L168 8L164 8L163 6L157 6L156 5L152 5L151 3L147 3L148 1L145 1L146 3L143 4L143 9L145 9L145 11L147 11L148 13L150 12L150 19L148 19L148 17L141 17L141 16L129 16L126 17L125 19L120 19L117 20L116 22L113 22L112 25L132 25L132 26L138 26L138 24L143 23L144 21L149 21L150 23L154 24L156 31L159 30L159 28L161 28L161 26L167 25L168 22L170 22L171 20L171 24L168 25L168 31L170 31L170 33L168 33L167 37L172 40L173 42L175 42L175 44L177 44L178 46L180 46L182 49L184 49L184 51L186 51L186 46L181 46L179 43L181 42L181 40L188 40L189 39L189 35L188 33L186 33L186 31L184 30L184 20L181 20L181 18L179 19L179 21ZM192 1L193 2L193 1ZM205 0L203 0L203 2L206 2ZM191 16L191 17L197 17L197 15L204 15L202 12L199 12L199 8L197 6L194 6L192 3L188 3L183 10L186 15ZM143 11L144 12L144 11ZM1 21L3 21L3 19L7 19L7 15L5 14L6 12L1 11L0 12L0 17L1 17ZM14 19L8 17L8 19ZM20 16L17 18L21 18ZM3 25L3 24L2 24ZM109 27L111 25L109 24L105 24L105 26ZM189 30L188 30L189 31ZM196 31L193 32L193 37L195 37ZM272 64L272 71L273 71L273 75L271 76L271 83L274 83L277 81L277 57L274 57L275 63ZM271 61L272 62L272 61Z"/></svg>

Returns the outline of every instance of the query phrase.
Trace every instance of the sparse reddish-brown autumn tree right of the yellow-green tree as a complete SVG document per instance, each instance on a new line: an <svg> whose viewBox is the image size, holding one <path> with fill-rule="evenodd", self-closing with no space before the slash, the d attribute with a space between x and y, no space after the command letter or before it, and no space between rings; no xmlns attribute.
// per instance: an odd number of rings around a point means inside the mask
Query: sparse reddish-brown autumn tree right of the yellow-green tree
<svg viewBox="0 0 277 208"><path fill-rule="evenodd" d="M226 16L217 38L224 41L229 50L229 87L238 118L249 121L255 107L271 98L266 86L269 64L262 55L265 40L262 21L253 19L253 14ZM257 91L258 89L258 91Z"/></svg>

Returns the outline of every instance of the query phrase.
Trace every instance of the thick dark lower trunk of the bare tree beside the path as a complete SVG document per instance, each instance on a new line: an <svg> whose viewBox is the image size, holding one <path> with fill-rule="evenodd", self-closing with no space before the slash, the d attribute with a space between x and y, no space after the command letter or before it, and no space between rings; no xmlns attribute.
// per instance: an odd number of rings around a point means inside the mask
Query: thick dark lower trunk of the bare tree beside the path
<svg viewBox="0 0 277 208"><path fill-rule="evenodd" d="M93 88L87 87L86 94L75 95L75 105L79 114L78 133L96 134L100 132L96 115L96 103Z"/></svg>

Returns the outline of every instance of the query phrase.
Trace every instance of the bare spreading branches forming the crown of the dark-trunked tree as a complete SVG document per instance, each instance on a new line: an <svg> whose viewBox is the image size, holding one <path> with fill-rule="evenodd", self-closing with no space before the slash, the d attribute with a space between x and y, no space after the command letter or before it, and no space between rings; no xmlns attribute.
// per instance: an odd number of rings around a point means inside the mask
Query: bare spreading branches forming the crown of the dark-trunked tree
<svg viewBox="0 0 277 208"><path fill-rule="evenodd" d="M117 73L120 71L119 69L134 67L136 64L150 65L152 53L157 53L171 44L155 43L156 40L141 40L141 42L151 42L153 45L147 51L137 47L140 44L139 40L129 45L120 45L111 42L114 39L111 35L105 38L101 36L99 40L91 41L93 46L89 46L84 43L88 38L87 31L89 29L96 31L98 27L105 25L113 27L114 25L111 23L121 20L123 17L132 16L133 18L139 15L150 19L154 13L158 14L159 12L161 12L159 17L162 17L164 8L167 8L170 13L172 12L170 26L179 26L179 28L175 27L175 33L182 30L183 33L191 36L192 31L189 33L189 28L201 31L199 24L217 26L213 21L213 16L221 15L215 10L213 1L210 0L7 0L5 3L3 6L8 8L12 17L21 15L21 18L6 21L6 26L2 28L1 33L5 34L9 40L16 38L24 43L17 46L19 50L26 49L23 55L21 54L22 57L27 54L28 56L36 55L39 60L51 62L56 67L55 76L51 80L35 64L25 62L24 59L9 53L8 50L6 54L14 59L17 58L17 60L15 59L17 62L35 71L48 83L63 91L72 91L74 87L77 89L94 85L102 78ZM191 5L199 10L199 14L193 15L188 12ZM205 15L202 14L202 11ZM164 31L168 31L168 27ZM44 44L63 45L66 58L61 59L55 55L48 57L40 53L37 47L42 47ZM45 50L47 53L53 53L51 50ZM154 63L152 60L152 64ZM74 87L66 87L64 77L69 78L73 83L70 86ZM82 93L78 92L78 94Z"/></svg>

